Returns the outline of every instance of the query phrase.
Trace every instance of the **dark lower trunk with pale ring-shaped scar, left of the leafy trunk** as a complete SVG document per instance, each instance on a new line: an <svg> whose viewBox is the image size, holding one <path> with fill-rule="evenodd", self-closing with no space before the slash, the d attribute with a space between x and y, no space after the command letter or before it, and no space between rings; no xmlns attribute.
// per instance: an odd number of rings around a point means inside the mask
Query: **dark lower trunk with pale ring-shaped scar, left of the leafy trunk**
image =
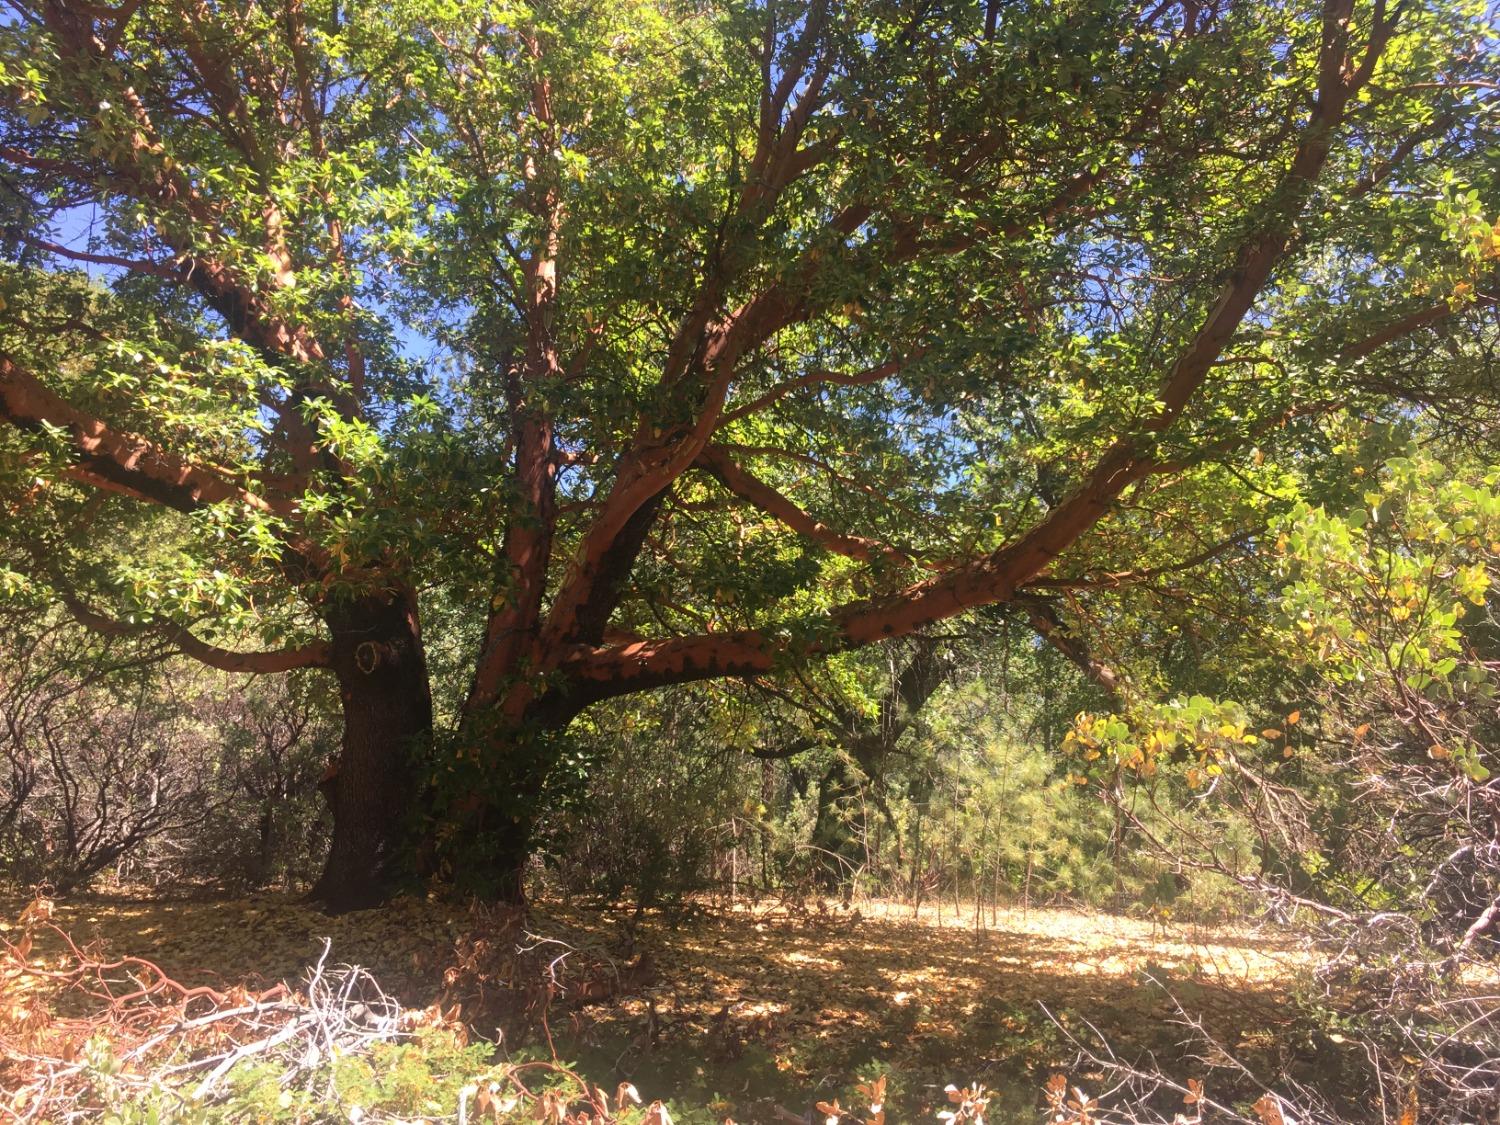
<svg viewBox="0 0 1500 1125"><path fill-rule="evenodd" d="M333 844L312 897L332 910L386 902L410 874L418 754L432 735L432 694L416 597L366 597L328 614L344 704L344 753L321 786Z"/></svg>

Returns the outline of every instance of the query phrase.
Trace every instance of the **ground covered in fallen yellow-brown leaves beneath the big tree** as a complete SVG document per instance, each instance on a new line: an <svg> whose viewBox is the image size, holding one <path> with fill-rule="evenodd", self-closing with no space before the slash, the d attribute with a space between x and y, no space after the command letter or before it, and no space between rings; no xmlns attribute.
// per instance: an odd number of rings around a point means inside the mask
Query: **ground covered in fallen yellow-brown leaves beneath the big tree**
<svg viewBox="0 0 1500 1125"><path fill-rule="evenodd" d="M22 904L0 903L0 936ZM1018 908L976 920L972 906L939 916L882 902L716 903L678 920L542 903L507 928L411 898L330 918L278 896L122 892L58 902L54 918L80 944L220 988L296 984L327 938L332 960L366 966L411 1006L460 1000L480 1034L494 1034L490 1016L502 1022L490 1000L520 996L530 1030L510 1023L502 1048L530 1040L596 1082L732 1106L741 1119L756 1119L744 1107L758 1100L801 1112L878 1072L892 1108L915 1114L946 1082L982 1082L1022 1119L1050 1071L1074 1068L1070 1036L1192 1077L1203 1035L1184 1012L1236 1054L1270 1050L1306 966L1284 936L1245 927Z"/></svg>

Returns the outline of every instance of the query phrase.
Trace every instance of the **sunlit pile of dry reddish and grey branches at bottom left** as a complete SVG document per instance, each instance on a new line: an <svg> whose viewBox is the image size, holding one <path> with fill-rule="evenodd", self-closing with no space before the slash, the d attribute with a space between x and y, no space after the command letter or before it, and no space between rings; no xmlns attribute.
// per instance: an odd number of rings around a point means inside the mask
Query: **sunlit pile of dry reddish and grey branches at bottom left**
<svg viewBox="0 0 1500 1125"><path fill-rule="evenodd" d="M44 958L39 944L60 952ZM328 1120L376 1120L340 1104L327 1064L423 1029L460 1042L465 1030L456 1008L404 1008L368 970L330 964L326 940L298 988L189 987L142 957L78 945L38 898L21 915L20 938L0 939L0 1120L94 1120L147 1100L176 1116L220 1104L231 1071L250 1060L273 1064L282 1090L310 1095ZM660 1102L636 1108L634 1088L610 1098L552 1062L480 1070L440 1119L604 1125L628 1108L632 1120L670 1122Z"/></svg>

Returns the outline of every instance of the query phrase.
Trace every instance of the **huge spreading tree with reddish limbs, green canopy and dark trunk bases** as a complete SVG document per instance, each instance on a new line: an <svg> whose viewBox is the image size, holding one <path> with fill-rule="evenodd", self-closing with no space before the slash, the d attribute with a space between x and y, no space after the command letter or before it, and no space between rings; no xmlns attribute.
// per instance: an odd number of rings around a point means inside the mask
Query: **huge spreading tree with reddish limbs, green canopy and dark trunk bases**
<svg viewBox="0 0 1500 1125"><path fill-rule="evenodd" d="M1209 556L1492 306L1468 0L9 8L8 586L336 675L334 906L518 892L597 700Z"/></svg>

